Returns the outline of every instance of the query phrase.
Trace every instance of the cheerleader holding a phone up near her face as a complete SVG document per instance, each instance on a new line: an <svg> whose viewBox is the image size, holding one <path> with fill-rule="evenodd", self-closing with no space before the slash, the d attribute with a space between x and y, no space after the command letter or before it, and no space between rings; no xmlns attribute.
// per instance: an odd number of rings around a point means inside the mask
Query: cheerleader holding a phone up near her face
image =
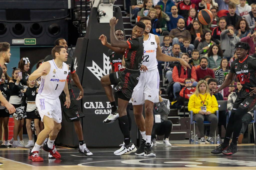
<svg viewBox="0 0 256 170"><path fill-rule="evenodd" d="M9 81L9 92L10 92L10 99L9 103L13 104L15 108L18 108L21 106L22 102L22 89L23 85L21 84L22 76L19 76L18 73L22 72L22 70L18 68L14 68L12 72L12 80ZM13 114L13 120L14 120L14 128L13 128L13 138L10 140L10 143L14 147L24 147L24 142L22 138L22 127L24 125L24 119L20 119L18 116L18 112L16 111ZM16 119L17 118L17 119ZM20 141L18 141L18 134Z"/></svg>

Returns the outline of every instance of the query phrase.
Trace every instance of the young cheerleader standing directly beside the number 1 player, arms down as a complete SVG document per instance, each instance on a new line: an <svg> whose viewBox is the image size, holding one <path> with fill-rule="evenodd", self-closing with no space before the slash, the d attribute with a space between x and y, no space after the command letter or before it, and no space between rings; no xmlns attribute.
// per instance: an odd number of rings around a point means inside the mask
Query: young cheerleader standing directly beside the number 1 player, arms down
<svg viewBox="0 0 256 170"><path fill-rule="evenodd" d="M26 128L28 132L28 144L25 147L34 146L35 143L33 141L33 131L31 129L31 121L34 119L36 134L40 133L39 129L39 120L41 120L39 113L36 108L36 95L38 92L38 88L35 87L35 80L28 80L28 88L24 90L24 97L21 106L26 105L27 101L27 108L26 108Z"/></svg>

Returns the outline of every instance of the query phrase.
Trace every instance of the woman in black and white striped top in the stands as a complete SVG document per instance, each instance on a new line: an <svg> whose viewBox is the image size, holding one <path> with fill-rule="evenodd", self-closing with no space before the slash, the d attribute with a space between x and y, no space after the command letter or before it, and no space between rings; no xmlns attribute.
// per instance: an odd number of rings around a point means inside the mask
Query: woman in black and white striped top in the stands
<svg viewBox="0 0 256 170"><path fill-rule="evenodd" d="M215 79L218 81L218 85L221 85L224 82L226 74L230 71L228 64L228 59L222 58L220 62L220 69L215 71Z"/></svg>

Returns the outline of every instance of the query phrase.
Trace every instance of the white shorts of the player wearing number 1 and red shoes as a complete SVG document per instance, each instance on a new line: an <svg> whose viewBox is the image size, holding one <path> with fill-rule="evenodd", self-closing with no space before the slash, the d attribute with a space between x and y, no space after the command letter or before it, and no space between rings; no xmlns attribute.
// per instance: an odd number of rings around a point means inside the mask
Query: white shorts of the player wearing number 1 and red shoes
<svg viewBox="0 0 256 170"><path fill-rule="evenodd" d="M60 99L48 99L39 94L36 95L36 106L43 122L43 117L47 116L52 118L56 123L61 123L61 106Z"/></svg>

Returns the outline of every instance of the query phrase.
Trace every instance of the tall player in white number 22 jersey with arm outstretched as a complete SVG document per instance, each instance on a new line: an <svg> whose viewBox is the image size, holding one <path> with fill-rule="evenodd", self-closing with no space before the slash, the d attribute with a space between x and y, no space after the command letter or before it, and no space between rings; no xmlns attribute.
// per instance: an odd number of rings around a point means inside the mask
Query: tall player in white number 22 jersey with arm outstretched
<svg viewBox="0 0 256 170"><path fill-rule="evenodd" d="M160 61L179 61L184 69L190 68L189 64L175 57L170 57L162 53L160 40L157 35L151 34L151 18L144 16L140 19L146 25L144 36L144 59L143 65L147 71L141 71L138 84L135 86L131 101L135 122L142 135L142 144L135 152L138 156L154 157L156 154L151 149L151 132L154 124L153 106L159 102L159 73L157 60ZM142 115L143 104L145 103L145 119Z"/></svg>

